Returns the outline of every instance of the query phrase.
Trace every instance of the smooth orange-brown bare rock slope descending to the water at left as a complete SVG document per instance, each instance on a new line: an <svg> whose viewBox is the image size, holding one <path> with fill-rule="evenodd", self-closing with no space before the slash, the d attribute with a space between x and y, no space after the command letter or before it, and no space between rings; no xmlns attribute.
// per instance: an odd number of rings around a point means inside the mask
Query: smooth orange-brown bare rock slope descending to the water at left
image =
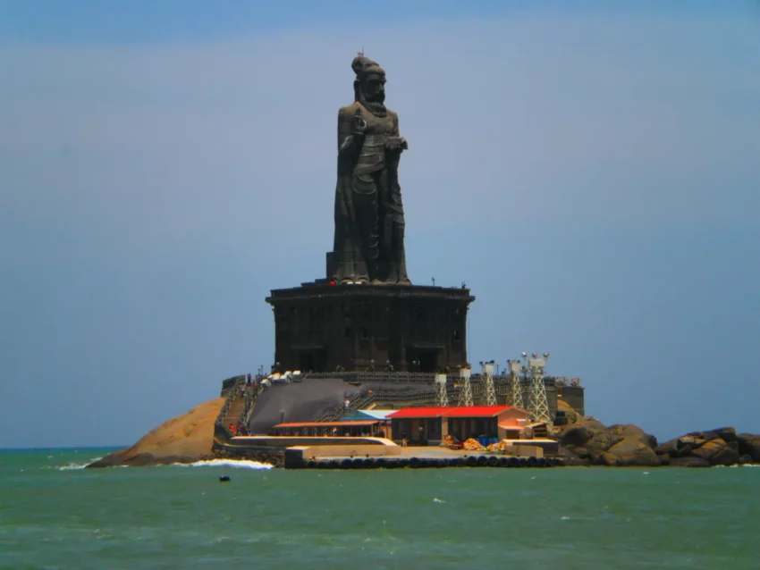
<svg viewBox="0 0 760 570"><path fill-rule="evenodd" d="M209 400L148 432L131 448L116 451L89 467L191 463L212 457L214 422L224 398Z"/></svg>

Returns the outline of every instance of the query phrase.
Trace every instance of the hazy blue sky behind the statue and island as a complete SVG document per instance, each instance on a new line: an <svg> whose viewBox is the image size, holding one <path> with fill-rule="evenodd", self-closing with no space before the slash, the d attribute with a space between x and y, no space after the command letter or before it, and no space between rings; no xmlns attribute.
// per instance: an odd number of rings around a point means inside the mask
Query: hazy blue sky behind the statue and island
<svg viewBox="0 0 760 570"><path fill-rule="evenodd" d="M0 447L128 445L274 359L364 48L410 278L587 414L760 432L756 2L0 3Z"/></svg>

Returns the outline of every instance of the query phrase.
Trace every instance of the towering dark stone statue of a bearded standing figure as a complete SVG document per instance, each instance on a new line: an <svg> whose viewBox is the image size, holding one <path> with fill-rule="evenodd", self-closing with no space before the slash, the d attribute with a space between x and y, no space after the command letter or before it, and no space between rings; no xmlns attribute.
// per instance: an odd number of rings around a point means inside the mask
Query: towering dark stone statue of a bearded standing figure
<svg viewBox="0 0 760 570"><path fill-rule="evenodd" d="M399 159L407 141L386 109L385 71L359 54L352 105L338 112L335 236L328 279L338 283L410 284L404 255Z"/></svg>

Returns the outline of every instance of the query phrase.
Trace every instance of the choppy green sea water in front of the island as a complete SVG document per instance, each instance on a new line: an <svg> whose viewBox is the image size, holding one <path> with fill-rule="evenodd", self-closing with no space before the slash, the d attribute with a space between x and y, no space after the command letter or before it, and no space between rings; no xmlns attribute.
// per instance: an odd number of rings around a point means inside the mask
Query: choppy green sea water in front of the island
<svg viewBox="0 0 760 570"><path fill-rule="evenodd" d="M760 468L80 468L106 451L0 451L0 567L760 567Z"/></svg>

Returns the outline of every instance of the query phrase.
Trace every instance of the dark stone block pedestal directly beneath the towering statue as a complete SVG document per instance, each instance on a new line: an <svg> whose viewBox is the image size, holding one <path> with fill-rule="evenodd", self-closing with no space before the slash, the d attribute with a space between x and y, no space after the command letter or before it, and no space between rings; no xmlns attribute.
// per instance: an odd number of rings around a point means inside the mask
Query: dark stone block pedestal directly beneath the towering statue
<svg viewBox="0 0 760 570"><path fill-rule="evenodd" d="M438 372L467 365L469 289L338 285L274 289L274 361L281 372Z"/></svg>

